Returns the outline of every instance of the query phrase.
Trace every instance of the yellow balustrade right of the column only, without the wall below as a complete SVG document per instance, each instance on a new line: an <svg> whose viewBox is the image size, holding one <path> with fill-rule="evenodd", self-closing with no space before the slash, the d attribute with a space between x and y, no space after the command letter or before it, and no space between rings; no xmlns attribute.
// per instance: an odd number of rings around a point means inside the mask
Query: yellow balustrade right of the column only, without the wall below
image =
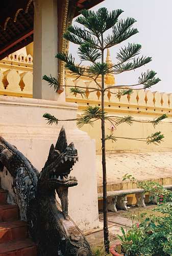
<svg viewBox="0 0 172 256"><path fill-rule="evenodd" d="M69 72L66 72L66 86L71 87L85 87L86 89L86 97L82 98L81 95L73 95L69 92L69 87L66 88L66 100L74 101L79 104L79 108L83 109L86 105L91 104L100 104L101 103L101 93L91 92L89 88L97 88L94 81L88 80L87 77L82 77L75 80L75 77L71 75ZM160 93L160 92L152 92L150 90L133 90L131 95L125 95L122 97L116 97L118 89L113 89L112 93L107 90L105 95L105 106L106 108L116 109L121 112L132 112L135 111L140 113L144 110L144 112L165 112L170 113L172 110L172 93Z"/></svg>

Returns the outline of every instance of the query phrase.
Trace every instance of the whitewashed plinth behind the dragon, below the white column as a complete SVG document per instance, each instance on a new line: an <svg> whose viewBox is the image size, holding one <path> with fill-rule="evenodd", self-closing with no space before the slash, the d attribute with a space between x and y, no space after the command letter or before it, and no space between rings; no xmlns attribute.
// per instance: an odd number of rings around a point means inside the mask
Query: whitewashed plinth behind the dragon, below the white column
<svg viewBox="0 0 172 256"><path fill-rule="evenodd" d="M95 142L87 133L78 130L75 121L47 125L42 115L47 112L59 119L76 118L77 104L41 99L0 96L0 135L15 145L38 169L44 166L52 143L56 143L64 125L68 143L73 141L79 162L72 176L78 186L69 188L69 215L82 230L99 225L97 183L95 169ZM2 186L10 189L11 179L2 176Z"/></svg>

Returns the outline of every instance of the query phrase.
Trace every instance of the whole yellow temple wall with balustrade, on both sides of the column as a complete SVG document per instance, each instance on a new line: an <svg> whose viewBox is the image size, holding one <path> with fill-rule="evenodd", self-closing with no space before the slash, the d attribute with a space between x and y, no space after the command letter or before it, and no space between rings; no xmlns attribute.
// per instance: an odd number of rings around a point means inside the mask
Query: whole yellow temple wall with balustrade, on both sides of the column
<svg viewBox="0 0 172 256"><path fill-rule="evenodd" d="M20 97L32 97L32 56L24 54L12 54L0 61L0 94ZM81 95L72 95L69 87L66 88L66 101L76 102L79 105L78 115L88 105L95 106L101 104L101 95L97 92L90 93L90 87L96 87L93 81L87 77L79 78L75 81L75 76L65 71L65 83L67 86L86 87L86 98ZM117 92L113 90L113 93ZM113 134L117 137L137 137L144 138L155 131L161 131L165 138L164 141L156 146L148 145L145 142L119 139L116 143L107 141L106 149L109 152L137 152L137 151L154 151L154 150L171 150L171 121L172 121L172 93L151 92L150 90L134 90L132 95L115 97L107 91L105 97L105 107L109 115L115 116L133 116L136 120L153 120L162 114L167 114L168 118L163 120L154 129L152 124L134 122L133 125L126 123L116 127ZM101 152L101 126L97 121L94 126L84 125L81 129L96 140L97 153ZM111 124L106 123L106 134L111 133Z"/></svg>

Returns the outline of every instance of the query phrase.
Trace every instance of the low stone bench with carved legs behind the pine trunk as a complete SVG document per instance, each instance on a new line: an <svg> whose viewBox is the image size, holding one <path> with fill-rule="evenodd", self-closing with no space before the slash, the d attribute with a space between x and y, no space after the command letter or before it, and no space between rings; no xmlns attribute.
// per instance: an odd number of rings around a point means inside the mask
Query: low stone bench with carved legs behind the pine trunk
<svg viewBox="0 0 172 256"><path fill-rule="evenodd" d="M165 189L172 189L172 185L165 185L163 186ZM145 192L141 188L133 188L127 190L115 190L115 191L108 191L108 210L117 211L120 210L127 210L127 195L135 194L136 197L136 205L145 207ZM103 199L103 193L98 194L98 200ZM151 202L153 204L157 204L156 197L151 198Z"/></svg>

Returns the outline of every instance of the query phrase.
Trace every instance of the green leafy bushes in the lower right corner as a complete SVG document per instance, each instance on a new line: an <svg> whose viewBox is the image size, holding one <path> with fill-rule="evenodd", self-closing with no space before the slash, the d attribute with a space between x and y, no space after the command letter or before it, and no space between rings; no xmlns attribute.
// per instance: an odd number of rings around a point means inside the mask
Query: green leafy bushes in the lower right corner
<svg viewBox="0 0 172 256"><path fill-rule="evenodd" d="M161 197L158 207L153 209L152 215L145 218L138 225L133 225L129 231L122 230L123 236L118 236L121 241L122 252L125 255L172 255L172 192L152 181L138 181L131 175L125 175L124 180L130 180L138 187L149 191L153 196ZM155 216L154 211L159 211L162 216ZM145 215L145 214L144 214ZM145 216L144 216L145 217Z"/></svg>

